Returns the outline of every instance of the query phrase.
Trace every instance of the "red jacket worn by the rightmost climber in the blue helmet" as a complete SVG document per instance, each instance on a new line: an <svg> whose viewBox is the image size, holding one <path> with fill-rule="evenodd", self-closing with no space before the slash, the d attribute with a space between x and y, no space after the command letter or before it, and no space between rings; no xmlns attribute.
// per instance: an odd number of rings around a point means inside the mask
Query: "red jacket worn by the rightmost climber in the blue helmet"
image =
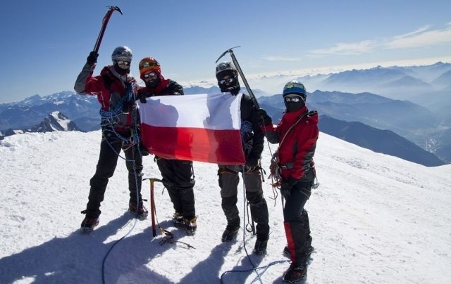
<svg viewBox="0 0 451 284"><path fill-rule="evenodd" d="M308 112L307 106L297 112L285 112L276 127L263 127L270 143L279 143L278 156L283 179L302 179L313 163L316 141L319 136L318 113ZM302 117L302 115L304 115ZM299 117L302 117L299 122ZM295 124L294 127L292 125ZM290 127L292 129L289 131ZM286 134L286 136L285 136ZM285 137L285 138L284 138Z"/></svg>

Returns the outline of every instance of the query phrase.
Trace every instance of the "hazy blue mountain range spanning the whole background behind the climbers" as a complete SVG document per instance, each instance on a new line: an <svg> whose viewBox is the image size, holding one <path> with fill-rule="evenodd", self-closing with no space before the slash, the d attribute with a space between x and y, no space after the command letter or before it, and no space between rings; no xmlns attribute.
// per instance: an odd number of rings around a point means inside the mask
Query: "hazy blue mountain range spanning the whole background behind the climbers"
<svg viewBox="0 0 451 284"><path fill-rule="evenodd" d="M320 120L321 131L376 152L433 166L451 162L450 77L451 64L435 63L411 67L378 66L296 79L307 90L315 90L307 93L307 105L324 115L320 117L324 120ZM282 80L286 82L287 78L280 77L280 82ZM184 89L186 95L219 92L217 86L187 86ZM242 91L245 91L244 87ZM253 93L273 121L278 122L285 110L280 94L259 89L254 89ZM97 98L63 91L0 104L0 131L6 135L12 129L31 129L56 110L69 117L82 131L99 129ZM332 122L334 127L328 127ZM352 122L362 125L356 128ZM381 132L376 136L369 135L374 133L371 129ZM376 143L376 137L385 139L385 143ZM416 145L415 149L411 141ZM405 149L411 149L407 155L402 153Z"/></svg>

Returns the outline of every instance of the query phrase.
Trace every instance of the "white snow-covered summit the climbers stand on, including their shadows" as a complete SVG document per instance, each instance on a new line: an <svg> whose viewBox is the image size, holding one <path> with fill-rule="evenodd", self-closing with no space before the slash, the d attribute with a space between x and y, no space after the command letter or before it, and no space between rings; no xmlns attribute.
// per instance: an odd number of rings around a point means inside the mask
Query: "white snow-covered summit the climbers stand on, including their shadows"
<svg viewBox="0 0 451 284"><path fill-rule="evenodd" d="M250 254L255 237L244 230L235 242L221 243L226 218L216 164L194 162L196 235L172 226L173 208L159 183L156 217L178 243L161 245L161 234L152 238L150 217L132 219L123 160L106 190L99 226L80 233L100 139L100 131L71 131L0 142L0 283L221 283L221 276L222 283L281 283L289 262L282 255L280 197L271 200L265 179L266 255ZM266 172L269 160L266 144ZM450 164L428 168L323 133L315 160L321 185L306 206L316 248L307 283L451 283ZM151 156L144 157L144 177L160 178ZM149 199L148 181L142 193ZM242 216L242 183L238 199ZM232 270L245 272L226 273Z"/></svg>

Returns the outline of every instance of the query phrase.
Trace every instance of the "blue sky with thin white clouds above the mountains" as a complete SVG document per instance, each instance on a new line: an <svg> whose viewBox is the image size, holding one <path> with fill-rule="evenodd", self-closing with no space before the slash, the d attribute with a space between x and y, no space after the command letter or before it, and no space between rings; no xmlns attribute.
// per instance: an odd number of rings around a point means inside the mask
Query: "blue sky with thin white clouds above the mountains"
<svg viewBox="0 0 451 284"><path fill-rule="evenodd" d="M233 46L241 46L235 56L249 78L451 62L445 0L7 0L0 9L0 103L72 91L107 6L123 15L111 17L95 75L120 45L134 53L133 75L153 56L163 76L182 84L214 82L216 59Z"/></svg>

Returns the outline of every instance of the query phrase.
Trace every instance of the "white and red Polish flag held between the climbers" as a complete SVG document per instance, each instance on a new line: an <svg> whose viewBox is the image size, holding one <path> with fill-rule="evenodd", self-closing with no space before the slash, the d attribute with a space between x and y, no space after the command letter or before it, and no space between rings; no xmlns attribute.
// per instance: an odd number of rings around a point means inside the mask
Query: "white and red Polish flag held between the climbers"
<svg viewBox="0 0 451 284"><path fill-rule="evenodd" d="M204 93L137 101L142 143L149 153L166 159L245 164L241 97Z"/></svg>

